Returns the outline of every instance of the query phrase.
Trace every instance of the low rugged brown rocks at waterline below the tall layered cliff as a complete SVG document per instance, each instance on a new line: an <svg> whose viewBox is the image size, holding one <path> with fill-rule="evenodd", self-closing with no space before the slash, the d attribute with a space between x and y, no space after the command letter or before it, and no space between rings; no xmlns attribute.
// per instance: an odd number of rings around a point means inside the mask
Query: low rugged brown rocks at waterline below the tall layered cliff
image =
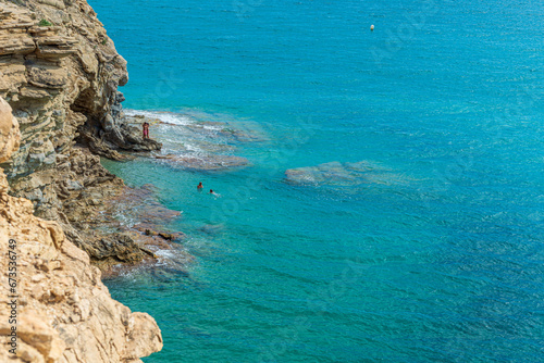
<svg viewBox="0 0 544 363"><path fill-rule="evenodd" d="M146 222L148 229L159 235L162 224L181 214L159 203L150 188L124 186L101 166L99 157L81 147L74 147L57 171L63 176L55 182L63 206L58 222L102 273L111 273L120 263L134 266L156 262L150 250L173 248L165 246L168 238L148 238L139 227Z"/></svg>

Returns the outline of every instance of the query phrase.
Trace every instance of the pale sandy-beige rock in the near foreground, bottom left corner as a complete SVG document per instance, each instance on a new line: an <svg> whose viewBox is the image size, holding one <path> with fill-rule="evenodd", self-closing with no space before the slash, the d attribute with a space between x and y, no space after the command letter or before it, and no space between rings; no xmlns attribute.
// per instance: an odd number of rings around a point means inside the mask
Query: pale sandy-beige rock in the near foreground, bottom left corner
<svg viewBox="0 0 544 363"><path fill-rule="evenodd" d="M10 107L0 98L0 162L18 145ZM111 299L88 255L55 222L34 216L33 203L8 196L0 168L0 334L2 362L140 362L162 348L154 320ZM16 355L5 340L12 314L8 280L10 239L16 241L18 336Z"/></svg>

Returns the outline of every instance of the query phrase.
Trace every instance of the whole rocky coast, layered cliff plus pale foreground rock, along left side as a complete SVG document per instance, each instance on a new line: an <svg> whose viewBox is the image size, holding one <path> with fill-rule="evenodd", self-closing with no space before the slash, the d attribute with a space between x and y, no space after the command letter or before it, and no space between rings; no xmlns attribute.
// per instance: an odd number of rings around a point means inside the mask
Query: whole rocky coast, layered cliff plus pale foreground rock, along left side
<svg viewBox="0 0 544 363"><path fill-rule="evenodd" d="M100 164L161 149L124 121L118 87L127 80L126 61L85 0L0 4L0 247L7 255L16 241L18 256L18 346L0 350L2 361L140 362L162 348L154 320L101 283L120 263L153 263L183 239L158 223L178 213ZM143 193L148 214L134 217L145 224L119 223L119 209ZM0 268L8 336L8 260Z"/></svg>

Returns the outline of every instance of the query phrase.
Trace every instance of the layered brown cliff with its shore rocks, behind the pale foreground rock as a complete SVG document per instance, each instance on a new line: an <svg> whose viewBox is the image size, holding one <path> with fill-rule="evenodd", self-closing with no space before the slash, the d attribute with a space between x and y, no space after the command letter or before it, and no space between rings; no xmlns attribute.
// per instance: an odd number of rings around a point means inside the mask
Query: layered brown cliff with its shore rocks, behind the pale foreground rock
<svg viewBox="0 0 544 363"><path fill-rule="evenodd" d="M127 80L126 61L85 0L0 0L0 97L22 135L1 165L10 193L58 222L101 268L150 258L131 237L92 226L103 200L124 189L98 155L161 148L124 122L118 87Z"/></svg>

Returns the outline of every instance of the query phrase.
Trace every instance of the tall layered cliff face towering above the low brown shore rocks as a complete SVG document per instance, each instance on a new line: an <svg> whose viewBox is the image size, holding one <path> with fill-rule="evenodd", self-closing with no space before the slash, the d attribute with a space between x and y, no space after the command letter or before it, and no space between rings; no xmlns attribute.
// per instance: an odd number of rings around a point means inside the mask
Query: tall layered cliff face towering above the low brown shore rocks
<svg viewBox="0 0 544 363"><path fill-rule="evenodd" d="M59 220L58 166L76 142L118 160L119 150L160 148L122 122L118 87L127 80L126 61L85 0L0 0L0 97L22 134L2 166L37 215Z"/></svg>

